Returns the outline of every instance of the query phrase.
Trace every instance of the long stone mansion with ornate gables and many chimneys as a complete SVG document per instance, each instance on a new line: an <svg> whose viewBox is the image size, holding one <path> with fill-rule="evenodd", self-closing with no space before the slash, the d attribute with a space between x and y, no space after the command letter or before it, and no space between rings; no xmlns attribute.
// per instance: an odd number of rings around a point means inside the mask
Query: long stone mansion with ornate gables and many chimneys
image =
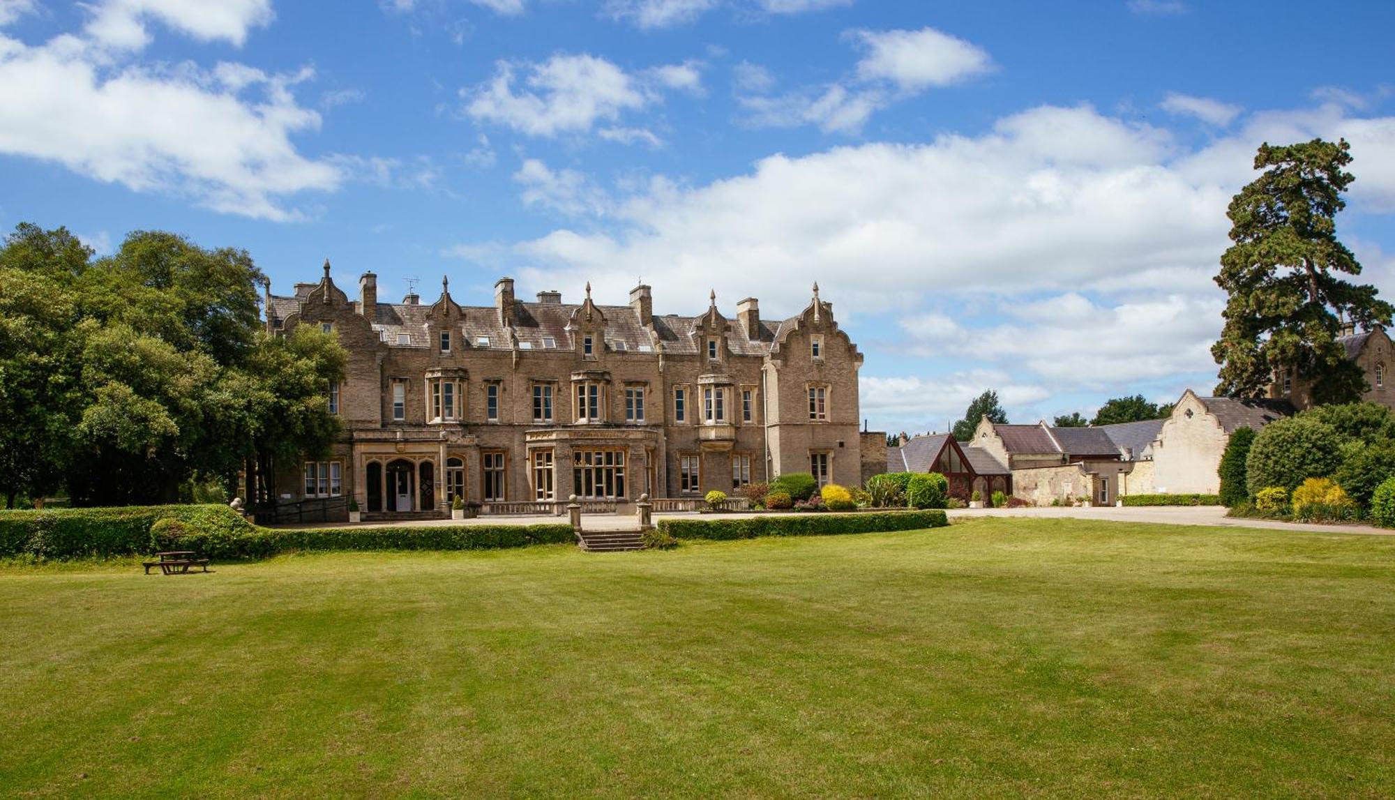
<svg viewBox="0 0 1395 800"><path fill-rule="evenodd" d="M492 307L463 307L442 280L379 302L377 277L350 300L329 277L266 295L266 325L317 325L349 355L332 386L343 436L329 457L278 477L282 499L347 496L368 513L481 503L633 500L731 492L783 472L861 484L862 354L813 298L788 319L737 315L716 294L698 316L656 315L649 286L598 305L495 284ZM287 486L294 489L287 491ZM290 495L287 498L287 495Z"/></svg>

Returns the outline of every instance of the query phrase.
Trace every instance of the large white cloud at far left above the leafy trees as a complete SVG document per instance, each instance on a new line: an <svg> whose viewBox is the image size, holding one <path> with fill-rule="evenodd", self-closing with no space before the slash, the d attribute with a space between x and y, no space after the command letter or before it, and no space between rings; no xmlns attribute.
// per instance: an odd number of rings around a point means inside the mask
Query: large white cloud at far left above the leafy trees
<svg viewBox="0 0 1395 800"><path fill-rule="evenodd" d="M198 6L202 13L195 13ZM126 61L112 42L123 20L144 28L156 17L197 38L240 43L269 15L264 3L130 1L93 8L95 36L60 35L42 46L10 43L0 53L0 153L57 162L133 191L172 192L219 212L289 220L283 198L332 191L333 164L300 155L292 137L319 128L319 114L296 102L312 72L272 75L241 64L205 71Z"/></svg>

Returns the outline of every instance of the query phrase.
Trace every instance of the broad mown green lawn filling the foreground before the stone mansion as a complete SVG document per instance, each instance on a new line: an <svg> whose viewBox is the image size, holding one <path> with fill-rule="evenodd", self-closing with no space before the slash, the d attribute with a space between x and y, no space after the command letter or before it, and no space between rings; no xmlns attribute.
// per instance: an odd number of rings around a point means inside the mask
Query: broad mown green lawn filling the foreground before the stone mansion
<svg viewBox="0 0 1395 800"><path fill-rule="evenodd" d="M0 793L1395 787L1395 538L911 534L0 569Z"/></svg>

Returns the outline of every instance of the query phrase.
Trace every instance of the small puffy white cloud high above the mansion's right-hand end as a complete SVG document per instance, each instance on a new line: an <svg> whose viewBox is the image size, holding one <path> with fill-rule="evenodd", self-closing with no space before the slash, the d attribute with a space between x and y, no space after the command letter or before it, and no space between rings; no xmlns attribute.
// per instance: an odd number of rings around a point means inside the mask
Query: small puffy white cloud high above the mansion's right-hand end
<svg viewBox="0 0 1395 800"><path fill-rule="evenodd" d="M864 81L886 79L904 92L947 86L992 68L988 52L935 28L919 31L852 31L868 49L858 61Z"/></svg>

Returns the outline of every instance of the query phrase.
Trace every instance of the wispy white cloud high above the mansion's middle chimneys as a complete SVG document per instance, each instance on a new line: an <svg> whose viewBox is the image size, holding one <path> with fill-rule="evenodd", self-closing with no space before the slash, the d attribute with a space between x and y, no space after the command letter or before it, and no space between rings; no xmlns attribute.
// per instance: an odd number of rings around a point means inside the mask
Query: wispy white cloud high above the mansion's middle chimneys
<svg viewBox="0 0 1395 800"><path fill-rule="evenodd" d="M515 72L525 71L523 86ZM499 61L494 78L462 91L465 111L476 120L508 125L531 137L590 131L653 100L615 64L594 56L557 54L541 64Z"/></svg>

